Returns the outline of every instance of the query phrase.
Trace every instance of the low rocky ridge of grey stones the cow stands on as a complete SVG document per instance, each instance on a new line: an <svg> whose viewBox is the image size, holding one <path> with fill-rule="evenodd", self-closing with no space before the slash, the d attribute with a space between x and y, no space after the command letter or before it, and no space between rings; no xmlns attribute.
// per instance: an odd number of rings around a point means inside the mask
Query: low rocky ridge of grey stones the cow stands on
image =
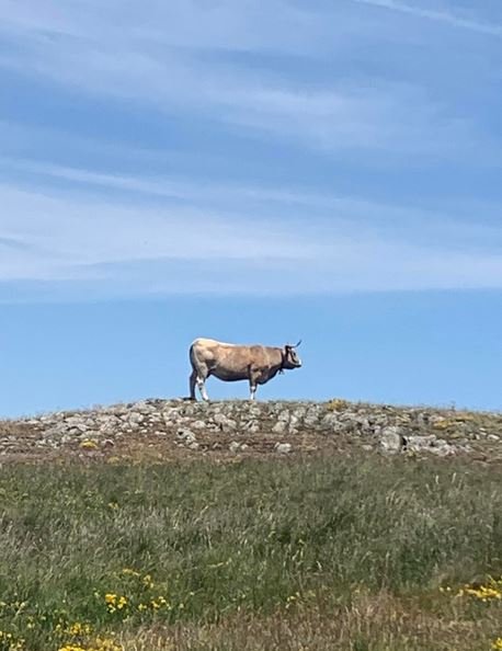
<svg viewBox="0 0 502 651"><path fill-rule="evenodd" d="M0 421L0 460L361 449L502 459L502 414L329 402L141 400Z"/></svg>

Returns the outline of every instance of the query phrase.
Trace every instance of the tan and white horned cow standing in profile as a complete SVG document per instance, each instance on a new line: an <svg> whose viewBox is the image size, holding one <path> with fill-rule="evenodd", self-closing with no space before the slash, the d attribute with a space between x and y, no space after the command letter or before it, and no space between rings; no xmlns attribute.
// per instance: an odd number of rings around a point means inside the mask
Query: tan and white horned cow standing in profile
<svg viewBox="0 0 502 651"><path fill-rule="evenodd" d="M215 341L214 339L196 339L190 346L190 399L195 398L195 386L198 387L203 400L209 400L205 381L214 375L220 380L233 382L248 380L250 400L254 400L256 385L264 385L277 373L286 368L299 368L301 361L295 349L299 346L286 344L278 346L237 345Z"/></svg>

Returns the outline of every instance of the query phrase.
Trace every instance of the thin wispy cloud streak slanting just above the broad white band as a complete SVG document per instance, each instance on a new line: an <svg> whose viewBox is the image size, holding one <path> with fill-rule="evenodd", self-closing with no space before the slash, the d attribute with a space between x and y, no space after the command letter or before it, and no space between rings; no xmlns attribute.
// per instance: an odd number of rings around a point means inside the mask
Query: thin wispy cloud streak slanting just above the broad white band
<svg viewBox="0 0 502 651"><path fill-rule="evenodd" d="M308 214L315 230L327 224L333 225L339 236L360 232L383 237L399 233L400 240L408 237L413 242L429 242L437 239L450 247L466 244L502 245L502 231L495 227L498 205L490 206L458 202L443 209L424 209L398 202L367 199L362 196L312 192L296 185L273 186L270 184L220 183L193 180L172 174L119 174L93 172L87 169L33 162L25 159L0 157L0 178L4 171L16 171L28 181L22 185L24 192L34 190L47 196L67 199L68 192L75 202L98 201L110 205L127 204L181 210L190 208L192 214L219 215L246 222L250 217L254 225L285 221L288 227L298 227L303 215ZM53 182L53 183L50 183ZM27 189L27 190L26 190ZM112 193L112 195L110 195ZM476 215L476 220L470 217ZM483 218L484 217L484 218ZM305 230L304 226L304 230Z"/></svg>

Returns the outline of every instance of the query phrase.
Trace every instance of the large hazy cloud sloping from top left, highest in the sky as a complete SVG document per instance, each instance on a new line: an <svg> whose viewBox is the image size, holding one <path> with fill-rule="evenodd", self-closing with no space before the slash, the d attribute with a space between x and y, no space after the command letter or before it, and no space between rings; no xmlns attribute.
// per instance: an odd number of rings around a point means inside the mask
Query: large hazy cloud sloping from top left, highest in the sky
<svg viewBox="0 0 502 651"><path fill-rule="evenodd" d="M412 83L356 83L341 68L329 82L310 85L296 78L294 60L287 72L273 73L215 56L225 48L319 56L329 25L340 22L345 27L331 37L334 52L355 31L343 13L300 12L281 0L265 9L255 0L150 1L148 11L133 2L35 8L24 0L0 15L18 43L0 65L138 107L189 113L327 152L452 157L478 141L468 116L453 117Z"/></svg>

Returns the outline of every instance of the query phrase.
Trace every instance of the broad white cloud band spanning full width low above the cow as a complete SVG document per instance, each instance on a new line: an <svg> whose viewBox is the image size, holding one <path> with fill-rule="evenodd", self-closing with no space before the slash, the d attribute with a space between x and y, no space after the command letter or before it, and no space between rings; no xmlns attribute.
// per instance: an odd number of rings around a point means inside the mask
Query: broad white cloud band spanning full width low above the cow
<svg viewBox="0 0 502 651"><path fill-rule="evenodd" d="M41 192L0 186L3 283L66 282L78 288L84 282L87 296L96 290L267 295L502 288L502 255L488 245L492 233L478 228L479 241L472 245L472 225L465 238L457 233L455 241L449 236L457 225L443 221L434 228L431 219L430 237L413 241L411 232L389 237L375 224L365 225L357 218L363 210L354 199L324 197L316 204L311 197L312 212L323 201L324 214L331 218L306 219L308 194L271 190L261 195L251 189L230 189L226 196L224 187L217 192L208 187L190 198L190 184L174 182L176 197L183 198L174 205L158 192L160 181L65 169L53 172L85 185L110 183L153 192L161 201L146 206L75 190L61 194L48 187ZM266 201L267 195L275 207L266 218L256 218L255 202ZM214 205L202 210L198 204L207 203L207 197ZM226 209L216 208L218 201ZM228 206L233 209L229 212ZM273 218L274 209L281 219ZM385 209L373 206L374 213ZM407 212L401 209L401 215ZM423 220L417 227L424 228ZM441 244L432 245L434 241Z"/></svg>

